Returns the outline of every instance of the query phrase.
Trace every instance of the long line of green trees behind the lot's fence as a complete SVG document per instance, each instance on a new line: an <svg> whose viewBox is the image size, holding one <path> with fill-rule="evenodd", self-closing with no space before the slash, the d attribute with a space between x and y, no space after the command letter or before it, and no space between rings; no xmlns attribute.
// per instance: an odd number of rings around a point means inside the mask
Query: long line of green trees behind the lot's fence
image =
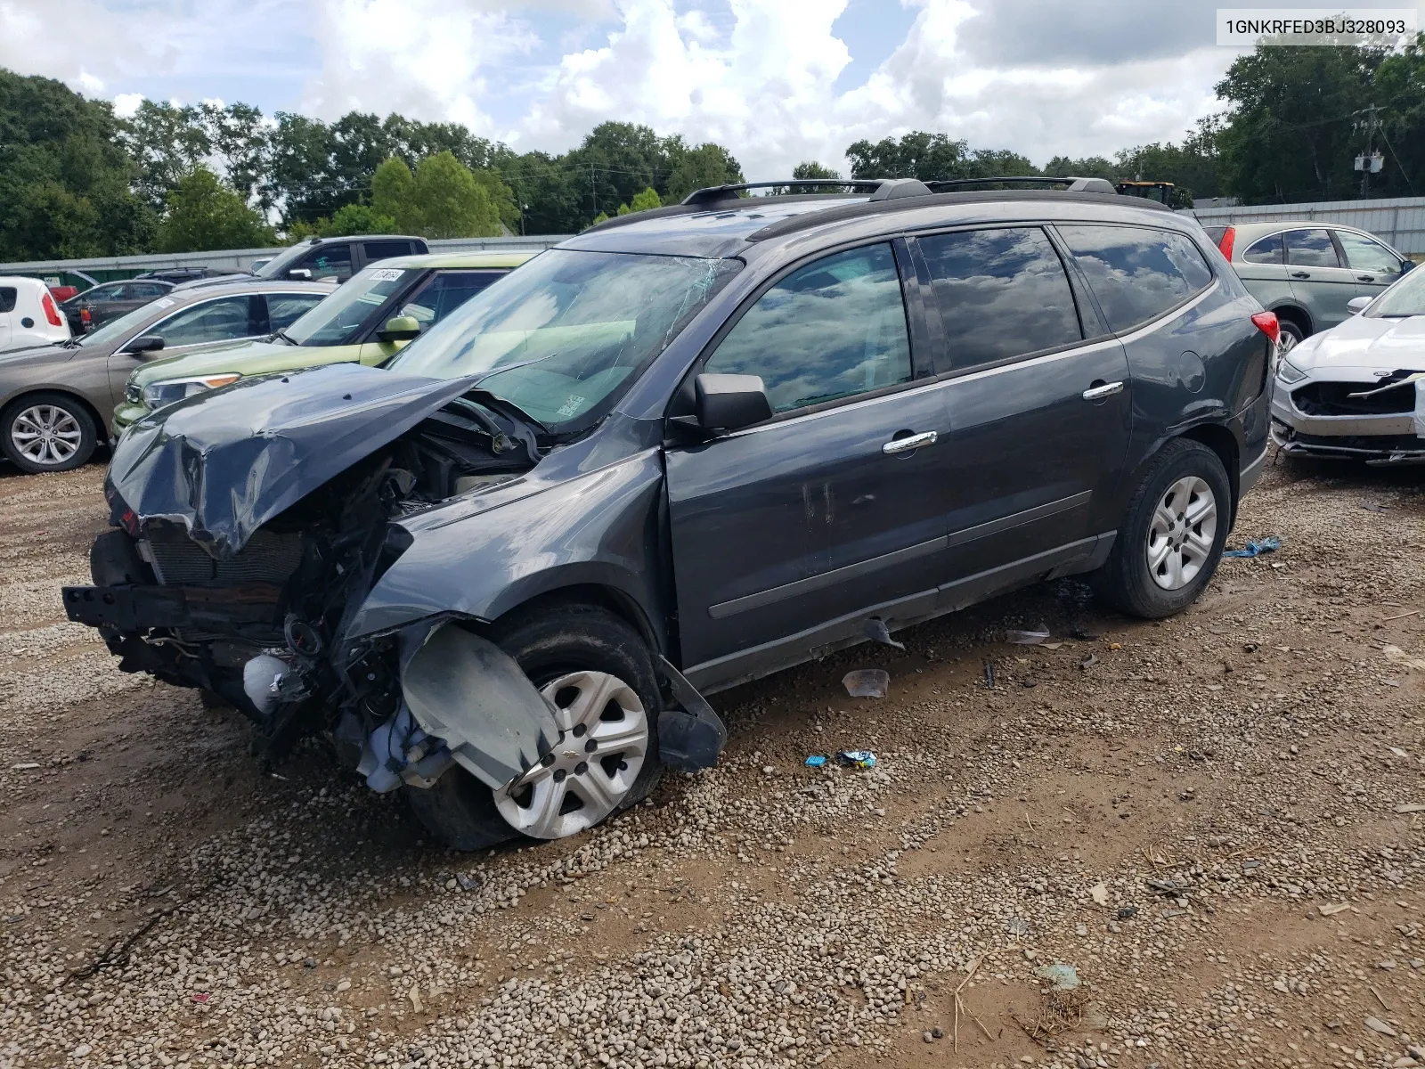
<svg viewBox="0 0 1425 1069"><path fill-rule="evenodd" d="M912 131L848 145L852 178L1047 175L1174 182L1292 202L1425 194L1425 36L1402 48L1260 47L1180 143L1037 167ZM1357 157L1378 153L1379 172ZM795 178L842 175L815 161ZM0 70L0 259L242 248L319 234L567 234L742 181L731 151L603 123L567 153L516 153L456 123L142 101L125 118L63 83ZM825 187L834 188L834 187Z"/></svg>

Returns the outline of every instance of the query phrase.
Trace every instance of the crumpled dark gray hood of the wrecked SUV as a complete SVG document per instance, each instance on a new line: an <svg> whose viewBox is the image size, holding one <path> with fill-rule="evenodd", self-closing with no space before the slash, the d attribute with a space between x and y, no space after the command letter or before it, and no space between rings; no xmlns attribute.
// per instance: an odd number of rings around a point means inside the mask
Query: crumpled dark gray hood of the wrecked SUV
<svg viewBox="0 0 1425 1069"><path fill-rule="evenodd" d="M227 560L269 519L470 385L356 363L235 382L134 423L105 489L115 515L182 523Z"/></svg>

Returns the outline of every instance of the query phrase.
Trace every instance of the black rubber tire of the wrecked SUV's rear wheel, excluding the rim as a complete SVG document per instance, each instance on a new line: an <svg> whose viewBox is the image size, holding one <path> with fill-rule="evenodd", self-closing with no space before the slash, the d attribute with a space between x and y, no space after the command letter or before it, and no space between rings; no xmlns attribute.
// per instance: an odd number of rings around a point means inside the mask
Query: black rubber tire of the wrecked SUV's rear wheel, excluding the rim
<svg viewBox="0 0 1425 1069"><path fill-rule="evenodd" d="M1147 540L1154 510L1180 479L1197 476L1207 483L1217 505L1213 546L1197 573L1177 590L1160 586L1150 573ZM1213 582L1227 542L1233 496L1227 472L1217 453L1201 442L1178 438L1163 446L1149 465L1143 482L1129 499L1123 526L1113 542L1107 563L1094 576L1094 592L1110 607L1129 616L1159 620L1180 613ZM1201 525L1198 525L1201 526Z"/></svg>

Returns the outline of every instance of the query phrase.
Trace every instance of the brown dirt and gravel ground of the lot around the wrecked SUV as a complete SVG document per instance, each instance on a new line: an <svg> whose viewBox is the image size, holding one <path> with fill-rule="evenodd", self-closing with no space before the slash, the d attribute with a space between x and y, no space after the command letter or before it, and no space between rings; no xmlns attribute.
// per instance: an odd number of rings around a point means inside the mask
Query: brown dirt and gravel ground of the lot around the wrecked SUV
<svg viewBox="0 0 1425 1069"><path fill-rule="evenodd" d="M66 623L100 480L0 470L0 1069L1425 1065L1418 470L1282 460L1180 617L714 696L718 768L477 857Z"/></svg>

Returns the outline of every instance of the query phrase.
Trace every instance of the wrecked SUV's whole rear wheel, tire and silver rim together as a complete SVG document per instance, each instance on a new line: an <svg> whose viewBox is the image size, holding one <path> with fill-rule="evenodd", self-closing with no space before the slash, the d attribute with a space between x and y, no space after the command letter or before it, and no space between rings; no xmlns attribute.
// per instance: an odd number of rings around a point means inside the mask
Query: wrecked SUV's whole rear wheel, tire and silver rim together
<svg viewBox="0 0 1425 1069"><path fill-rule="evenodd" d="M1180 613L1217 572L1231 520L1231 485L1201 442L1168 442L1149 465L1097 576L1113 609L1147 620Z"/></svg>

